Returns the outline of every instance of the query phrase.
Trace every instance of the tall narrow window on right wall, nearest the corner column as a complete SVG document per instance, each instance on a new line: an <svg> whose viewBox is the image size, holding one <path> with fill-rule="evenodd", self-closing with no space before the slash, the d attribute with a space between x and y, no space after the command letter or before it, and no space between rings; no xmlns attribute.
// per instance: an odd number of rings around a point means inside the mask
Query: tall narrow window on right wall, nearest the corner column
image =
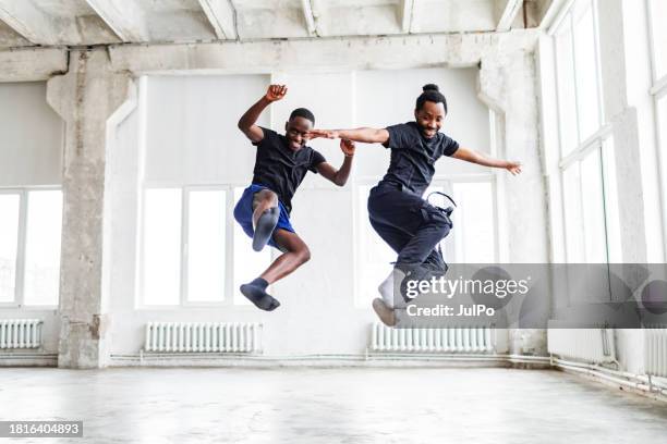
<svg viewBox="0 0 667 444"><path fill-rule="evenodd" d="M603 124L597 2L577 0L551 29L568 262L620 260L614 143Z"/></svg>

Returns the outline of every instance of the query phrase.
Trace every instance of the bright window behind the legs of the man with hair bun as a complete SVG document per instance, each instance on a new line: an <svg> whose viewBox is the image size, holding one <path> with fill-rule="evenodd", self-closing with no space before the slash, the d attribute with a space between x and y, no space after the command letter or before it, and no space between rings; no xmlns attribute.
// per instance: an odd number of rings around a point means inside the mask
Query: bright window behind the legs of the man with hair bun
<svg viewBox="0 0 667 444"><path fill-rule="evenodd" d="M377 297L377 287L392 269L397 252L373 230L368 221L366 202L374 185L360 185L355 189L355 243L356 275L355 304L367 307ZM494 263L497 261L496 208L492 176L451 182L434 181L424 193L433 192L451 196L458 207L452 213L453 230L440 243L445 261L448 263ZM447 208L449 199L433 194L428 201Z"/></svg>

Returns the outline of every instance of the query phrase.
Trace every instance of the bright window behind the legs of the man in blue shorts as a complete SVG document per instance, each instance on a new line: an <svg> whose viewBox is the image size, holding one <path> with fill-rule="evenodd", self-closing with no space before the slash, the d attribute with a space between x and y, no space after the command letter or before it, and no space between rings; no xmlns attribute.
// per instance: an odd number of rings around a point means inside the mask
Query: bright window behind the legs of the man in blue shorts
<svg viewBox="0 0 667 444"><path fill-rule="evenodd" d="M250 304L239 286L268 267L271 248L253 251L251 239L233 222L233 205L242 192L229 186L145 190L142 306Z"/></svg>

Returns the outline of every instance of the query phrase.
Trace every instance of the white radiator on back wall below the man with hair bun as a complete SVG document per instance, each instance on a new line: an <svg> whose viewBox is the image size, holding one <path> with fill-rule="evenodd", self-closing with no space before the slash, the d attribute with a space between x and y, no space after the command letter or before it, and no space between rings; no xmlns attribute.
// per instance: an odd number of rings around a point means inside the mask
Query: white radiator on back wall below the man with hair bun
<svg viewBox="0 0 667 444"><path fill-rule="evenodd" d="M487 326L392 329L373 324L371 350L415 353L493 353L496 331Z"/></svg>

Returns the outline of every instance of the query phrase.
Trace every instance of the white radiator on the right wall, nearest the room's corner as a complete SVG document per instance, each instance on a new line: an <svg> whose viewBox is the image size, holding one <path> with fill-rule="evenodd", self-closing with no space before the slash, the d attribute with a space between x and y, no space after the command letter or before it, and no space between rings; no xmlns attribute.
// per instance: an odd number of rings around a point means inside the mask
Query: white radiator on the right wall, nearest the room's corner
<svg viewBox="0 0 667 444"><path fill-rule="evenodd" d="M549 328L547 348L551 355L593 363L616 361L613 329Z"/></svg>

